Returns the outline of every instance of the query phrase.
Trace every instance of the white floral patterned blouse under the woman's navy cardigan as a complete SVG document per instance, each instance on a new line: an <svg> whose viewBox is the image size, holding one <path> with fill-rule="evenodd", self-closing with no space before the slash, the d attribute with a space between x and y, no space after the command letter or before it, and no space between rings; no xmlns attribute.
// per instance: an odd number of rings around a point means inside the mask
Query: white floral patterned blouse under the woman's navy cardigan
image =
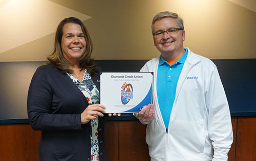
<svg viewBox="0 0 256 161"><path fill-rule="evenodd" d="M93 82L92 77L85 69L82 82L80 82L76 77L67 73L69 77L73 80L73 83L82 92L84 97L86 97L89 105L99 103L99 91ZM98 138L98 120L91 120L91 160L99 161L99 138Z"/></svg>

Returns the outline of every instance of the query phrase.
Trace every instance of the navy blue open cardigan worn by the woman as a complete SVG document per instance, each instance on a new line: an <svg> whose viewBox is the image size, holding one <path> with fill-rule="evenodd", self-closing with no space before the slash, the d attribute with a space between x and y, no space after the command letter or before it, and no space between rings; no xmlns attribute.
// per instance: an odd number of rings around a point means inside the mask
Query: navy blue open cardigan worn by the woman
<svg viewBox="0 0 256 161"><path fill-rule="evenodd" d="M99 89L99 72L92 79ZM81 125L86 97L66 74L53 65L42 65L33 75L27 110L34 130L41 130L39 161L91 160L91 125ZM99 156L104 161L104 124L99 118Z"/></svg>

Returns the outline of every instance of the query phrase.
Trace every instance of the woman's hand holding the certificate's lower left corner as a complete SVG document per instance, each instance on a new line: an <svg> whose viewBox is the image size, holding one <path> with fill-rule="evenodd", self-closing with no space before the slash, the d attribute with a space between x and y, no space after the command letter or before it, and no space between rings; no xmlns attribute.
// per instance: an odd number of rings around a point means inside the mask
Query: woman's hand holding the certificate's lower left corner
<svg viewBox="0 0 256 161"><path fill-rule="evenodd" d="M106 107L103 104L91 104L88 105L86 110L81 113L81 123L86 124L92 119L98 119L98 117L103 117Z"/></svg>

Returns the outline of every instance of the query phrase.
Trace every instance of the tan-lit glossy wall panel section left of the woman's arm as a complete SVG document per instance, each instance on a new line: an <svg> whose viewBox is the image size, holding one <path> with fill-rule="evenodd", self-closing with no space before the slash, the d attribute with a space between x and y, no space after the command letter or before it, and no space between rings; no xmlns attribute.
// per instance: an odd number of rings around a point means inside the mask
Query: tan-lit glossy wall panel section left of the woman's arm
<svg viewBox="0 0 256 161"><path fill-rule="evenodd" d="M0 63L0 119L28 118L28 88L33 73L41 64L42 62Z"/></svg>

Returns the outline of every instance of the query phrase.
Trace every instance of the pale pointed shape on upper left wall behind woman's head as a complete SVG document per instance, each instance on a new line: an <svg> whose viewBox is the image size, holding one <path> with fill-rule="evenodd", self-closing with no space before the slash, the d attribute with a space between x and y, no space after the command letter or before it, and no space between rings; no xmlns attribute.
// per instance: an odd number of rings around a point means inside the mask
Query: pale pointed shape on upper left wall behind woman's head
<svg viewBox="0 0 256 161"><path fill-rule="evenodd" d="M66 17L92 17L48 0L11 0L0 6L0 53L56 31Z"/></svg>

